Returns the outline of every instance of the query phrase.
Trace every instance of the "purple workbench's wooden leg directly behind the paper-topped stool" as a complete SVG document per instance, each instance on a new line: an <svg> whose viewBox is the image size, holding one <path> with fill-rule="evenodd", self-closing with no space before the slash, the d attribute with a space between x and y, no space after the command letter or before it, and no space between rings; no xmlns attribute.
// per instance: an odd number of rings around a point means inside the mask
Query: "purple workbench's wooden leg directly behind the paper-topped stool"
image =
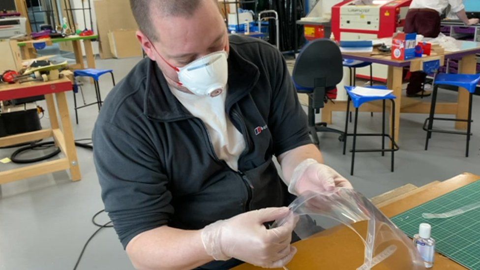
<svg viewBox="0 0 480 270"><path fill-rule="evenodd" d="M402 79L403 79L403 67L399 66L389 66L389 77L388 77L388 87L393 90L393 94L397 97L396 103L398 104L395 108L390 107L390 130L392 130L392 123L395 123L394 129L394 139L398 144L399 135L400 135L400 107L402 104ZM395 110L395 121L392 120L393 110ZM391 132L391 131L390 131ZM390 134L392 135L392 134ZM391 143L390 143L391 144Z"/></svg>

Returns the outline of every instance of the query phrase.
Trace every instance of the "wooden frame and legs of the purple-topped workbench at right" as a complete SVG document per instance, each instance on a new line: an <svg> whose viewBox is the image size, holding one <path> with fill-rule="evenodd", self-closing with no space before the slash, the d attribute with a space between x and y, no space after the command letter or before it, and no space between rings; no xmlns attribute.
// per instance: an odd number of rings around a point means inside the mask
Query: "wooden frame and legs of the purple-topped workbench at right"
<svg viewBox="0 0 480 270"><path fill-rule="evenodd" d="M456 52L445 52L444 58L459 59L459 72L462 74L475 74L477 70L477 58L476 54L480 53L480 43L473 41L460 41L457 40L457 47L460 49ZM410 67L411 71L420 70L420 59L414 60L391 60L390 54L388 55L370 55L359 53L342 53L345 59L354 59L360 61L367 61L372 63L379 63L388 65L388 88L393 90L393 94L397 97L395 101L400 106L396 106L395 110L395 141L399 142L400 134L400 113L418 113L428 114L430 112L430 102L424 102L420 98L408 98L402 96L402 79L403 68ZM436 57L436 56L434 56ZM424 57L422 60L429 60L432 57ZM458 91L457 102L437 102L435 109L436 114L450 114L456 115L457 119L467 119L468 115L468 91L460 89ZM347 101L335 101L335 104L328 102L325 104L325 108L322 109L322 121L331 123L332 112L346 112ZM354 108L351 108L353 111ZM370 102L360 107L360 111L363 112L382 112L382 103ZM392 121L390 121L391 123ZM457 129L466 129L466 122L456 122L455 127ZM390 128L391 130L391 128Z"/></svg>

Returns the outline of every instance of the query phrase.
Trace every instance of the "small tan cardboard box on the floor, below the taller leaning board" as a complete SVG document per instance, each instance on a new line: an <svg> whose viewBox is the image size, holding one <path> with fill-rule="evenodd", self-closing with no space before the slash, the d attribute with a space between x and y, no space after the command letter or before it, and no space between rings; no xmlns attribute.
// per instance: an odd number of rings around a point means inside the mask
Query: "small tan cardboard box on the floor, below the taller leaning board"
<svg viewBox="0 0 480 270"><path fill-rule="evenodd" d="M113 30L108 32L110 52L115 58L142 56L142 47L137 40L136 30Z"/></svg>

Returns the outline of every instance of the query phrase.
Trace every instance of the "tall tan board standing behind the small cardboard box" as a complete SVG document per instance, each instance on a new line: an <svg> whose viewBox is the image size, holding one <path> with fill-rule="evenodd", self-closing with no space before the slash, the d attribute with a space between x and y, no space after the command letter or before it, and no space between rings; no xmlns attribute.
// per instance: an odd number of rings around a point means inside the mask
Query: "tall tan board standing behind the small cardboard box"
<svg viewBox="0 0 480 270"><path fill-rule="evenodd" d="M138 29L137 22L133 17L129 0L94 0L93 6L97 18L97 30L99 35L99 53L101 59L109 59L114 56L110 50L108 32L118 29Z"/></svg>

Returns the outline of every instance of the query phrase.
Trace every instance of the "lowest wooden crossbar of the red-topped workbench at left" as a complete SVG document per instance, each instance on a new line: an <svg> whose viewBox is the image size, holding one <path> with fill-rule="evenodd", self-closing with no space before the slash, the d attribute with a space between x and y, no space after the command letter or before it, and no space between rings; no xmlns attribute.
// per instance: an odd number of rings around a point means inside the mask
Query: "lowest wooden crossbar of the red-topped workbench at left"
<svg viewBox="0 0 480 270"><path fill-rule="evenodd" d="M62 158L54 161L43 162L27 167L0 172L0 184L67 170L68 167L68 159Z"/></svg>

